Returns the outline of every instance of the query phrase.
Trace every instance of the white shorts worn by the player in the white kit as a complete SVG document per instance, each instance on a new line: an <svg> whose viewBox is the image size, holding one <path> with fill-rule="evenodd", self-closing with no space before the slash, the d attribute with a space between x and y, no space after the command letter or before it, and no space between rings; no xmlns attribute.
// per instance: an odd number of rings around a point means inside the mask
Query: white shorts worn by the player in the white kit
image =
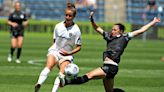
<svg viewBox="0 0 164 92"><path fill-rule="evenodd" d="M56 58L59 65L64 61L69 61L70 63L73 62L73 56L72 55L63 56L58 51L54 51L54 50L49 50L47 56L49 56L49 55L53 55Z"/></svg>

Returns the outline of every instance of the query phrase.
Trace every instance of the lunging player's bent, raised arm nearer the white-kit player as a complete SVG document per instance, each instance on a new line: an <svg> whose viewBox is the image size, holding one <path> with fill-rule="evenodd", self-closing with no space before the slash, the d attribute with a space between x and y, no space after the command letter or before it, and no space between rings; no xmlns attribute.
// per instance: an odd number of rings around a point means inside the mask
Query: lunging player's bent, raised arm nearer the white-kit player
<svg viewBox="0 0 164 92"><path fill-rule="evenodd" d="M99 26L94 22L93 14L94 14L94 12L90 12L90 21L91 21L92 27L94 28L94 30L95 30L96 32L98 32L99 34L103 35L104 30L103 30L101 27L99 27Z"/></svg>

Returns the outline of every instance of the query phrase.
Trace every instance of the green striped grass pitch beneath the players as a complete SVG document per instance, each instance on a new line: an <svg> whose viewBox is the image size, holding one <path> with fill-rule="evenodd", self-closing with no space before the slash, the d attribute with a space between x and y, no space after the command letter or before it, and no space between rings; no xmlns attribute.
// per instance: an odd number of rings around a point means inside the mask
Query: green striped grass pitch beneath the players
<svg viewBox="0 0 164 92"><path fill-rule="evenodd" d="M51 33L25 33L21 64L7 62L10 48L8 32L0 32L0 92L34 92L34 85L43 69L47 49L52 44ZM105 41L99 36L83 35L82 50L75 55L79 75L102 65ZM115 88L125 92L164 92L164 42L160 40L132 40L127 46ZM32 60L33 63L28 62ZM51 92L58 69L54 68L40 92ZM82 85L68 85L59 92L104 92L102 80Z"/></svg>

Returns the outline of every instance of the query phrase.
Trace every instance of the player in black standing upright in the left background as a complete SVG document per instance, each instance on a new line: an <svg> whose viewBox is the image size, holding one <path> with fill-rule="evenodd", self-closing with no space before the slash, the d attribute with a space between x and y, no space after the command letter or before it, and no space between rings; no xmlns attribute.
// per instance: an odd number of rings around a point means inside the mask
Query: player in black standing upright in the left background
<svg viewBox="0 0 164 92"><path fill-rule="evenodd" d="M19 60L22 45L23 45L23 36L24 36L24 27L28 25L28 20L26 14L21 11L21 3L15 3L15 11L9 15L7 23L10 25L11 33L11 48L10 54L8 55L8 62L11 62L13 59L13 54L15 49L17 49L16 63L21 63Z"/></svg>

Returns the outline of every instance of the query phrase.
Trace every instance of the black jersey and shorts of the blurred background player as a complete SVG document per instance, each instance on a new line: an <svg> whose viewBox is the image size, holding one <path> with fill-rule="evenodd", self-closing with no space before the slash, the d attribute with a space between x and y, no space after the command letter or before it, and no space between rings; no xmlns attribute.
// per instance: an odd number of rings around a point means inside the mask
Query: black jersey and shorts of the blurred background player
<svg viewBox="0 0 164 92"><path fill-rule="evenodd" d="M11 26L11 31L23 31L24 26L22 25L23 21L27 21L27 16L23 11L14 11L9 15L9 21L16 22L17 27Z"/></svg>

